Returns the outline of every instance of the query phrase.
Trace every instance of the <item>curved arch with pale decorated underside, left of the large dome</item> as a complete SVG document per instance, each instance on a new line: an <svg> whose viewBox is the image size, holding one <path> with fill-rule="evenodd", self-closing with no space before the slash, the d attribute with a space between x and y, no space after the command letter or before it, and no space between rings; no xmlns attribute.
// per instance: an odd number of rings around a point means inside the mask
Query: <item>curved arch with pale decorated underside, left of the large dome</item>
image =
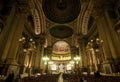
<svg viewBox="0 0 120 82"><path fill-rule="evenodd" d="M34 18L35 34L43 34L46 32L45 17L42 11L42 4L40 1L36 1L35 8L32 9L32 15Z"/></svg>

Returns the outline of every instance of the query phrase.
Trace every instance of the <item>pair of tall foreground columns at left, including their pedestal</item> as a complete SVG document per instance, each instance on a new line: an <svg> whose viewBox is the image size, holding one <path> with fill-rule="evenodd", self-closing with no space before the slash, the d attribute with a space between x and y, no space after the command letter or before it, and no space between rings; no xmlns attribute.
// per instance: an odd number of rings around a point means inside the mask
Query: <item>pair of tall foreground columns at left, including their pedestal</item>
<svg viewBox="0 0 120 82"><path fill-rule="evenodd" d="M27 14L24 13L24 11L18 12L17 9L16 5L12 7L3 35L0 37L0 48L3 50L0 58L6 63L6 73L9 73L11 70L18 72L18 67L15 67L15 65L18 65L16 62L16 55L19 46L19 38L22 36ZM3 45L4 39L6 44Z"/></svg>

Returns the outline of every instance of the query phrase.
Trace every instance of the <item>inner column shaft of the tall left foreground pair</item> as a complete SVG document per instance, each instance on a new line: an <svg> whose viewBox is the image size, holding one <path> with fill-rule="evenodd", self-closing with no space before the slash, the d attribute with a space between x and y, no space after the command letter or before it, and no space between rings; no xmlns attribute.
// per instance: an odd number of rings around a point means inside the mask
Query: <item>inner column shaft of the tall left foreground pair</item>
<svg viewBox="0 0 120 82"><path fill-rule="evenodd" d="M25 15L24 14L19 15L18 20L19 21L18 21L17 25L13 26L13 27L15 27L15 29L12 30L13 34L11 34L11 40L9 39L9 41L11 42L11 45L10 45L10 49L8 51L9 54L8 54L7 58L12 59L12 60L15 60L15 58L16 58L16 53L17 53L18 45L19 45L19 38L22 35L24 23L26 20Z"/></svg>

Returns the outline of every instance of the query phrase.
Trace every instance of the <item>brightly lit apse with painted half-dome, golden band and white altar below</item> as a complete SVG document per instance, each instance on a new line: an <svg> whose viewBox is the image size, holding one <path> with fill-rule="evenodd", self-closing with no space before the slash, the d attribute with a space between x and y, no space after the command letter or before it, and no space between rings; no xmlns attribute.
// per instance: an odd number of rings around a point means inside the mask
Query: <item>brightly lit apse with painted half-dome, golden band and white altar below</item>
<svg viewBox="0 0 120 82"><path fill-rule="evenodd" d="M57 41L53 45L52 50L52 61L55 63L52 66L53 71L65 72L70 71L71 66L69 65L71 60L71 49L70 45L66 41Z"/></svg>

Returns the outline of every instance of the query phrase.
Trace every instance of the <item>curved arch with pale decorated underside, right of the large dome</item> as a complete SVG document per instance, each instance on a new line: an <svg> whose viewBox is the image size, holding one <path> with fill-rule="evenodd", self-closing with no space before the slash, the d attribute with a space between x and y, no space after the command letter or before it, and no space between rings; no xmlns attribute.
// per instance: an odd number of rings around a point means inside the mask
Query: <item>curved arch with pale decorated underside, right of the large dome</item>
<svg viewBox="0 0 120 82"><path fill-rule="evenodd" d="M91 0L90 2L85 2L82 4L81 7L81 13L80 16L78 18L78 25L77 25L77 30L78 30L78 34L83 34L86 35L87 34L87 29L88 29L88 22L89 22L89 18L91 16L91 12L93 10L93 1Z"/></svg>

